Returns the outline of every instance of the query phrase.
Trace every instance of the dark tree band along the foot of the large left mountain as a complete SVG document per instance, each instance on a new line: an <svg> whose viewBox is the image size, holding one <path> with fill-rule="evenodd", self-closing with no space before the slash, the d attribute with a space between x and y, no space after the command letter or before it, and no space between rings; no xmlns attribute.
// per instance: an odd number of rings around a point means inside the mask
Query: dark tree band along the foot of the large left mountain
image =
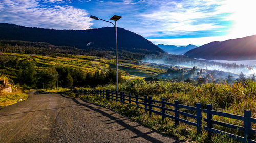
<svg viewBox="0 0 256 143"><path fill-rule="evenodd" d="M58 55L65 56L66 54L75 55L89 55L110 58L115 56L115 49L77 49L70 46L54 46L49 43L44 42L26 42L26 41L16 41L16 40L0 40L0 52L7 53L25 53L25 54L41 54L41 55ZM119 57L126 59L143 59L147 54L143 51L137 50L134 52L120 49Z"/></svg>

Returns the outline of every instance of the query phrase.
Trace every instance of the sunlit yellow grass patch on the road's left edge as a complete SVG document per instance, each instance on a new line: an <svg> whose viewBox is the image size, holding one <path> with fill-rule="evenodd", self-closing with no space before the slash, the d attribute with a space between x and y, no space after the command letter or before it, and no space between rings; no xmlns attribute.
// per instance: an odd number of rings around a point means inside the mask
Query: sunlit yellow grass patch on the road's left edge
<svg viewBox="0 0 256 143"><path fill-rule="evenodd" d="M26 100L28 98L28 94L22 92L15 93L0 93L0 106L9 106L15 104L17 102Z"/></svg>

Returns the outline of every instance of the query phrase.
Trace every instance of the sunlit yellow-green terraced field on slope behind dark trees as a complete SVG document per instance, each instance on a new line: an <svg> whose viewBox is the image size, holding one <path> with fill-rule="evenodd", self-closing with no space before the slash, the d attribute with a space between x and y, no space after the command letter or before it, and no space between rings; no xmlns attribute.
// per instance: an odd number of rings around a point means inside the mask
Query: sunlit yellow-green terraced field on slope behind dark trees
<svg viewBox="0 0 256 143"><path fill-rule="evenodd" d="M19 53L3 53L12 59L27 59L34 60L37 68L40 70L48 66L67 66L79 68L85 72L93 73L96 69L104 70L108 67L115 68L115 59L98 58L96 56L85 55L68 55L68 56L49 56L49 55L34 55L34 54L19 54ZM137 65L135 61L119 60L119 72L126 79L143 78L155 76L166 72L166 66L152 66L150 64ZM1 70L0 72L7 74L12 69Z"/></svg>

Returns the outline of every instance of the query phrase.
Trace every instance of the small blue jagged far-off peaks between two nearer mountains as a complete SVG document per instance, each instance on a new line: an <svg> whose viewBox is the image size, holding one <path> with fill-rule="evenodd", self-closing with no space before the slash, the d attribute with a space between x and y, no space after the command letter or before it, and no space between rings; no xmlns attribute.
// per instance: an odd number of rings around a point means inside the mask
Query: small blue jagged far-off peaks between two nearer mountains
<svg viewBox="0 0 256 143"><path fill-rule="evenodd" d="M164 44L158 44L157 46L170 54L177 54L177 55L183 55L187 51L197 47L197 46L191 45L191 44L189 44L187 46L180 46L180 47L177 47L175 45L164 45Z"/></svg>

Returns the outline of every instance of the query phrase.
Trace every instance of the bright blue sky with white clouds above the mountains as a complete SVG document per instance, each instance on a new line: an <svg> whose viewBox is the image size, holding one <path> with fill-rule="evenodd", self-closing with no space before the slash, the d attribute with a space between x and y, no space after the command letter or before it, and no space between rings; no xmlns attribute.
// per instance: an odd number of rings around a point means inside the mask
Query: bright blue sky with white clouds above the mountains
<svg viewBox="0 0 256 143"><path fill-rule="evenodd" d="M86 30L117 26L155 44L203 45L256 34L255 0L0 0L0 22Z"/></svg>

